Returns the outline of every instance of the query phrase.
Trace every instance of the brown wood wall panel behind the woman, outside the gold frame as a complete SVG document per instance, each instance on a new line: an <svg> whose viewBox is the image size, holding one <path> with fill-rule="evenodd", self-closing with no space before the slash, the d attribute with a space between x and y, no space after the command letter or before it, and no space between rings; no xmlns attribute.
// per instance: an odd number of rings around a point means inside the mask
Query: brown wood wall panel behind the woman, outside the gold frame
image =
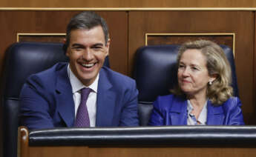
<svg viewBox="0 0 256 157"><path fill-rule="evenodd" d="M246 11L131 11L129 73L134 53L145 44L145 33L235 33L235 64L246 124L255 121L254 24Z"/></svg>

